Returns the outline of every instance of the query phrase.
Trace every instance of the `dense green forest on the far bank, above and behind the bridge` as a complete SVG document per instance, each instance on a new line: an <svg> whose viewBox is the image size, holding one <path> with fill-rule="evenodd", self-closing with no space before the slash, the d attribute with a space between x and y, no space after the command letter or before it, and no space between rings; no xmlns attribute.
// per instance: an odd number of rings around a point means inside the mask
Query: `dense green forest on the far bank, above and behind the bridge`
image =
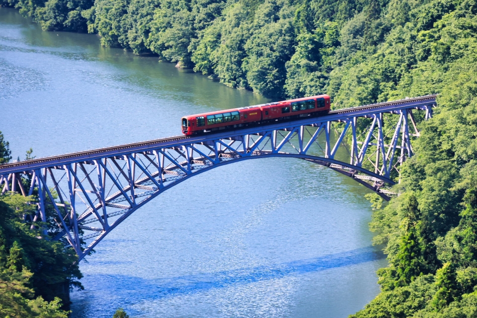
<svg viewBox="0 0 477 318"><path fill-rule="evenodd" d="M420 95L474 45L474 0L0 0L265 96L348 106ZM470 61L469 61L470 62ZM408 70L413 69L410 75ZM420 72L420 73L419 73ZM419 73L419 74L418 74ZM438 84L434 82L434 84Z"/></svg>

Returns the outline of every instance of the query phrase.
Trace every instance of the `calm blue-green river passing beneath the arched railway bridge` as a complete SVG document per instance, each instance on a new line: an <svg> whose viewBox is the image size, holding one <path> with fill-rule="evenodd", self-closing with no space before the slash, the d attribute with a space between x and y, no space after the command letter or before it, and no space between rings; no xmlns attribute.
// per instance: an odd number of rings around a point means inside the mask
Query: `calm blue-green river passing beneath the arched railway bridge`
<svg viewBox="0 0 477 318"><path fill-rule="evenodd" d="M13 158L180 134L183 115L259 104L206 76L43 32L0 7L0 130ZM86 257L72 318L341 318L379 292L368 190L299 159L198 175L132 214Z"/></svg>

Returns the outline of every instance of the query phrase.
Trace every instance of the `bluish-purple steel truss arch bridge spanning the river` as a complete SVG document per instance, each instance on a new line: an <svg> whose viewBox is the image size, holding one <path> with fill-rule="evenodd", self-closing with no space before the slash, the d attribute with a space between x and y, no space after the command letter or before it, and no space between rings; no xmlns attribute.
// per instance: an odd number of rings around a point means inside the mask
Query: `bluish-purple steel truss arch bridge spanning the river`
<svg viewBox="0 0 477 318"><path fill-rule="evenodd" d="M82 259L109 232L161 192L208 170L248 159L291 157L337 171L384 199L412 156L416 120L432 117L437 95L335 110L320 117L130 143L0 166L0 189L38 193L46 222ZM177 124L179 127L179 123ZM31 180L29 188L20 182ZM44 230L46 234L46 229Z"/></svg>

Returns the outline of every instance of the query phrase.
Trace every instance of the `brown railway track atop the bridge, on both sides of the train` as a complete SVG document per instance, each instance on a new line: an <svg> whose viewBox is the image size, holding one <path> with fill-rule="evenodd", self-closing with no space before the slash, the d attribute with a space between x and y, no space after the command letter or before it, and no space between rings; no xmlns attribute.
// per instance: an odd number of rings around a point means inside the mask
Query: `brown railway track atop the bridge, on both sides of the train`
<svg viewBox="0 0 477 318"><path fill-rule="evenodd" d="M412 103L412 102L420 102L420 101L426 101L426 100L433 100L437 97L437 94L432 94L432 95L426 95L426 96L421 96L421 97L415 97L415 98L407 98L407 99L402 99L402 100L397 100L397 101L392 101L392 102L384 102L384 103L376 103L376 104L369 104L369 105L363 105L359 107L353 107L353 108L346 108L346 109L341 109L341 110L333 110L330 111L327 115L339 115L339 114L345 114L345 113L351 113L351 112L357 112L357 111L362 111L362 110L370 110L374 108L382 108L386 106L397 106L400 104L407 104L407 103ZM205 135L201 135L205 136ZM13 162L13 163L7 163L0 165L0 173L3 171L11 170L12 168L16 167L24 167L25 170L29 170L30 167L41 165L44 163L51 163L51 162L58 162L58 161L69 161L69 159L74 160L74 159L82 159L82 158L87 158L87 157L95 157L95 155L107 155L111 154L111 156L114 156L115 153L123 151L123 150L128 150L131 148L144 148L150 145L157 145L157 144L164 144L164 143L171 143L179 140L184 140L184 139L195 139L197 138L196 136L173 136L173 137L167 137L167 138L160 138L160 139L154 139L154 140L148 140L148 141L141 141L141 142L134 142L134 143L128 143L124 145L118 145L118 146L111 146L111 147L105 147L105 148L98 148L98 149L93 149L93 150L86 150L86 151L80 151L80 152L74 152L74 153L67 153L63 155L57 155L57 156L50 156L50 157L44 157L44 158L38 158L38 159L32 159L28 161L19 161L19 162Z"/></svg>

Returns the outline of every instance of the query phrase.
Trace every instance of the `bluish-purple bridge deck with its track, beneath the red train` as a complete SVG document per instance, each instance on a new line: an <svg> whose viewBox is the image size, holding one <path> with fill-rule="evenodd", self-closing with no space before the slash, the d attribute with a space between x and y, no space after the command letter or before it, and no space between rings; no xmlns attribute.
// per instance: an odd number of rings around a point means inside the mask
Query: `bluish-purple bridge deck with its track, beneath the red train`
<svg viewBox="0 0 477 318"><path fill-rule="evenodd" d="M397 112L401 109L409 109L415 106L416 109L423 109L426 106L435 105L435 99L437 94L427 95L416 98L409 98L403 100L397 100L393 102L384 102L377 104L364 105L359 107L334 110L327 115L319 117L320 121L340 121L347 117L366 117L373 113L383 112ZM266 125L270 129L280 129L290 127L290 125L306 126L312 125L317 122L317 117L308 117L303 119L296 119L292 121L280 121L277 123ZM74 152L69 154L50 156L44 158L38 158L28 161L20 161L14 163L3 164L0 166L0 174L18 173L23 171L30 171L34 169L51 167L55 165L64 165L78 161L94 160L104 157L121 156L134 152L146 151L151 148L166 147L166 146L181 146L191 143L205 142L217 138L227 138L237 134L253 134L256 132L257 126L249 126L239 128L235 130L223 130L215 133L208 133L198 136L174 136L168 138L154 139L149 141L135 142L118 146L111 146L87 151Z"/></svg>

